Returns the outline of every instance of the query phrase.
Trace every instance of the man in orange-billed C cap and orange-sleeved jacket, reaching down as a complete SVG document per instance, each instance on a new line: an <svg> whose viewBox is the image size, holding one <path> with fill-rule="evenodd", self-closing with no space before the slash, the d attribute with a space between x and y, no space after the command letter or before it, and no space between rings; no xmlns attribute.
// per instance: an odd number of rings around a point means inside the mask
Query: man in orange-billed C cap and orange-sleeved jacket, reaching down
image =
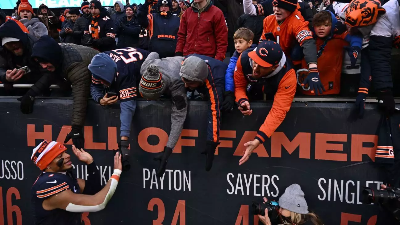
<svg viewBox="0 0 400 225"><path fill-rule="evenodd" d="M271 137L286 117L296 93L296 74L278 43L262 41L257 48L242 52L234 72L236 101L243 115L251 115L249 97L267 94L274 98L272 108L253 141L249 141L239 165L246 162L254 149ZM250 90L251 89L251 90ZM247 93L246 93L247 92Z"/></svg>

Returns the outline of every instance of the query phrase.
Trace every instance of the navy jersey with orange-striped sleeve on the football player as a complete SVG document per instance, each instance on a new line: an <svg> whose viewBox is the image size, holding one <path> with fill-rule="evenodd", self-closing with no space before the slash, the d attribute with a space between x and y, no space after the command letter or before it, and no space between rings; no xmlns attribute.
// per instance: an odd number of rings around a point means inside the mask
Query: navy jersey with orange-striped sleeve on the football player
<svg viewBox="0 0 400 225"><path fill-rule="evenodd" d="M81 225L81 213L72 213L64 209L45 210L42 207L44 200L65 190L80 194L78 180L72 173L42 172L39 175L31 189L35 225Z"/></svg>

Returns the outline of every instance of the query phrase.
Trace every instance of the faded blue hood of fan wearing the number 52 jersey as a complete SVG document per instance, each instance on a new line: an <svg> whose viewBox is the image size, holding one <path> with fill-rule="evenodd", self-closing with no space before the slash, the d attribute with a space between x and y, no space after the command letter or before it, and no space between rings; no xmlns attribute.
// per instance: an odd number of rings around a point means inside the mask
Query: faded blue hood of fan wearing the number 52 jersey
<svg viewBox="0 0 400 225"><path fill-rule="evenodd" d="M100 80L105 80L109 84L114 82L114 77L117 74L117 64L106 53L95 55L90 62L88 69L92 73L92 82L100 83Z"/></svg>

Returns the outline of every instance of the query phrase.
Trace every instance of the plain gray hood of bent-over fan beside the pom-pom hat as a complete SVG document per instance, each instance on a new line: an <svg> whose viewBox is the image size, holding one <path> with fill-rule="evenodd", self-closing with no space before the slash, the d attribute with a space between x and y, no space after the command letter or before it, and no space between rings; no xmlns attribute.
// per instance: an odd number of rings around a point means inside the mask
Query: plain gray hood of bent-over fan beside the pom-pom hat
<svg viewBox="0 0 400 225"><path fill-rule="evenodd" d="M208 76L208 65L197 56L189 56L182 62L179 75L188 80L204 82Z"/></svg>

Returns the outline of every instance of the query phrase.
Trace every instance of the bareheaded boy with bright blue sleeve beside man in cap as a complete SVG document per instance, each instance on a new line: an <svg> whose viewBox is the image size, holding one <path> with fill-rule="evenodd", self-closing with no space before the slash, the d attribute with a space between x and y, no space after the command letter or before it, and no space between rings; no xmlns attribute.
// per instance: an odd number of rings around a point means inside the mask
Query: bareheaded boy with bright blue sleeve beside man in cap
<svg viewBox="0 0 400 225"><path fill-rule="evenodd" d="M236 67L236 62L238 57L242 52L250 48L253 44L254 33L248 28L239 28L233 35L233 40L235 42L236 51L230 57L228 69L225 73L225 100L222 102L224 111L232 111L235 104L235 84L233 81L233 73ZM256 45L254 46L256 47Z"/></svg>

